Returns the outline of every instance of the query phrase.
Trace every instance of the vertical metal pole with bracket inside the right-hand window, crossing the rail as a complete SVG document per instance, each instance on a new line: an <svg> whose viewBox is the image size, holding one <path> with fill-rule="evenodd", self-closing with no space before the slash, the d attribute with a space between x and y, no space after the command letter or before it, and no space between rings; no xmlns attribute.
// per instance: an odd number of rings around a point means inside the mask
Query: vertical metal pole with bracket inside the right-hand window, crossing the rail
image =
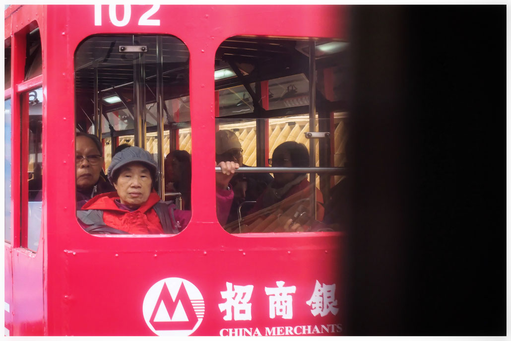
<svg viewBox="0 0 511 341"><path fill-rule="evenodd" d="M316 42L309 41L309 131L316 129ZM310 167L316 167L316 139L309 139ZM311 212L316 219L316 173L310 173Z"/></svg>

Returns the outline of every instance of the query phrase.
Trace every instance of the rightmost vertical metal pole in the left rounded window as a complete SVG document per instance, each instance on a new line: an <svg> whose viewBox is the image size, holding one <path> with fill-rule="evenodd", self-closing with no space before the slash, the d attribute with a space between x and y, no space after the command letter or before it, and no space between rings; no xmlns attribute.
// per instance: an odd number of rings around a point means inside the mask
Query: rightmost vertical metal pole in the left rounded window
<svg viewBox="0 0 511 341"><path fill-rule="evenodd" d="M156 37L156 129L158 138L158 168L160 169L160 178L158 194L165 200L165 167L164 167L164 146L163 146L163 38Z"/></svg>

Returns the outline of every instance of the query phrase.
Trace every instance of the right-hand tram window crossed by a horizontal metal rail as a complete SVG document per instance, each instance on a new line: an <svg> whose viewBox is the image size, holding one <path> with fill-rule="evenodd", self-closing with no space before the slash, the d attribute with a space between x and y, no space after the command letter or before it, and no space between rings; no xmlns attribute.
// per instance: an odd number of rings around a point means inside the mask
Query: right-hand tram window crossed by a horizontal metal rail
<svg viewBox="0 0 511 341"><path fill-rule="evenodd" d="M217 161L229 157L234 161L237 153L244 167L269 167L266 173L246 169L231 180L235 198L224 225L229 233L344 228L344 176L332 168L345 164L347 43L314 42L313 127L309 113L310 46L309 40L236 36L223 41L217 50ZM306 132L311 131L328 132L329 137L310 139ZM311 143L315 144L314 162L310 160ZM272 167L310 170L272 172Z"/></svg>

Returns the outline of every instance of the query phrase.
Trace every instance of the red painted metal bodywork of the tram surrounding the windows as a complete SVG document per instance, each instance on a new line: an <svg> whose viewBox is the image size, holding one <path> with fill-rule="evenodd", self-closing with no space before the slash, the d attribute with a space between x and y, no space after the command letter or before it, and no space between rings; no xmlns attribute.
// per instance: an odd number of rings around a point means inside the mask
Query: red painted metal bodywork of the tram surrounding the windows
<svg viewBox="0 0 511 341"><path fill-rule="evenodd" d="M235 35L346 38L345 8L161 6L151 16L151 19L160 20L159 26L138 25L138 19L151 9L151 5L130 8L131 19L124 27L112 25L108 6L102 6L101 26L94 25L93 5L24 6L11 15L13 22L43 18L38 24L43 43L45 103L41 240L35 255L20 248L13 251L11 311L19 314L13 315L11 335L155 335L165 333L165 330L175 334L179 324L166 324L166 316L158 316L153 309L149 313L153 316L145 316L143 309L145 300L146 303L159 302L157 297L151 299L148 292L153 285L168 278L192 283L202 296L204 310L198 309L200 313L194 315L178 288L171 293L182 299L187 316L203 314L196 330L184 334L257 335L256 329L262 335L341 333L344 236L341 233L236 236L224 232L216 218L215 173L207 165L213 165L215 158L212 143L215 133L213 75L219 44ZM22 15L31 19L21 19ZM119 11L118 16L122 15ZM190 51L192 163L199 167L192 167L192 219L179 235L93 236L85 233L76 219L73 57L78 44L87 36L122 33L173 34ZM12 78L19 79L15 72L20 69L14 66L13 62ZM13 98L16 96L13 94ZM12 104L13 131L19 131L19 123L15 126L15 102L13 100ZM13 165L16 161L19 165L19 156L15 156L20 153L16 139L18 137L13 134ZM12 174L14 188L20 180L15 175L19 170L14 166ZM16 197L14 192L13 202L19 202L19 196ZM15 212L13 210L13 217ZM14 226L19 226L19 220ZM16 240L15 236L13 240ZM9 247L6 244L6 261ZM166 285L182 282L179 281L168 280ZM284 284L277 283L281 281ZM331 293L333 298L330 297L337 300L335 304L331 302L339 309L335 314L332 310L324 316L324 311L313 314L313 306L319 300L314 296L316 281L323 289L327 289L326 285L336 284L335 292ZM227 302L222 297L222 292L228 291L227 283L253 285L248 301L251 320L235 320L234 315L232 320L225 320L227 313L219 304ZM284 318L284 312L275 311L272 306L275 295L267 293L265 288L271 290L277 284L295 287L294 292L289 293L291 306L284 307L292 307L292 318ZM201 300L191 294L191 287L185 289L188 297L200 306ZM154 290L159 292L158 288ZM169 300L168 296L164 292L161 298L166 305L174 305L179 310L177 298ZM321 299L325 301L329 300L327 296L326 292L321 293ZM273 317L272 309L276 313ZM153 323L158 329L155 333L146 320L157 322L158 319L159 324ZM179 320L179 316L176 319ZM181 321L179 328L190 326Z"/></svg>

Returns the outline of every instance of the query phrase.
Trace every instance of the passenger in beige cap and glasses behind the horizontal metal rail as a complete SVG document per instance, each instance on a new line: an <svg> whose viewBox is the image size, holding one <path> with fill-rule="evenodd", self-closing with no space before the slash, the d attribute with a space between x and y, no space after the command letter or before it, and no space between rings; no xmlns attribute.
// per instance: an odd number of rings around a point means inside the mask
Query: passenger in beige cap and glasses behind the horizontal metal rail
<svg viewBox="0 0 511 341"><path fill-rule="evenodd" d="M243 149L236 133L231 130L219 130L215 135L216 161L235 162L241 167L249 167L243 164ZM230 208L227 222L238 220L238 207L244 201L255 201L273 181L268 173L237 173L231 180L234 199ZM250 209L248 204L242 206L241 214L245 215Z"/></svg>

